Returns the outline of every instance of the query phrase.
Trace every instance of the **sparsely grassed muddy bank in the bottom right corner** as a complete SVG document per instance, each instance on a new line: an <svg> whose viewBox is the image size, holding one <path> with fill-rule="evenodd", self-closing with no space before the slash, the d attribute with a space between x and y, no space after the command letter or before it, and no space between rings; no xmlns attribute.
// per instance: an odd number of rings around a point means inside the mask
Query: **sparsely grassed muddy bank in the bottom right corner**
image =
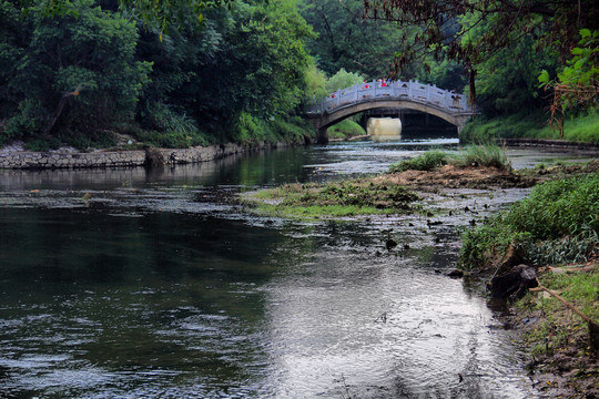
<svg viewBox="0 0 599 399"><path fill-rule="evenodd" d="M590 319L599 320L599 265L583 270L545 269L540 284L572 304ZM514 324L519 341L530 355L528 368L542 375L540 389L558 398L599 396L598 352L590 341L589 324L555 297L529 293L516 303Z"/></svg>

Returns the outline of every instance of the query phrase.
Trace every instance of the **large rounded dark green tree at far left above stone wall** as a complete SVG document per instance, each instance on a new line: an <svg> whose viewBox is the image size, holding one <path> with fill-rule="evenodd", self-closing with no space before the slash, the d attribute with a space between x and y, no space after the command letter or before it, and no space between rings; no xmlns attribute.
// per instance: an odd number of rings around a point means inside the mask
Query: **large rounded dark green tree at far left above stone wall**
<svg viewBox="0 0 599 399"><path fill-rule="evenodd" d="M110 129L132 119L148 82L151 65L134 60L133 23L92 0L62 6L53 18L45 17L44 4L31 7L20 40L1 39L9 51L0 57L19 54L0 78L8 82L2 109L13 110L3 115L13 139Z"/></svg>

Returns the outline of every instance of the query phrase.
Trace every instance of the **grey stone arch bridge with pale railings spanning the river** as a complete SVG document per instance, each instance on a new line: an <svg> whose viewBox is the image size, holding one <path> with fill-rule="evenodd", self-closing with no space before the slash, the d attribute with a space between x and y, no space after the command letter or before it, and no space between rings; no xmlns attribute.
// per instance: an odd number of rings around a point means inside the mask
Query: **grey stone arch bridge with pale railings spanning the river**
<svg viewBox="0 0 599 399"><path fill-rule="evenodd" d="M373 81L337 90L321 102L315 101L314 105L306 109L304 117L318 132L316 142L326 144L329 126L359 112L375 109L414 110L432 114L457 126L458 133L476 113L463 94L435 85L416 81Z"/></svg>

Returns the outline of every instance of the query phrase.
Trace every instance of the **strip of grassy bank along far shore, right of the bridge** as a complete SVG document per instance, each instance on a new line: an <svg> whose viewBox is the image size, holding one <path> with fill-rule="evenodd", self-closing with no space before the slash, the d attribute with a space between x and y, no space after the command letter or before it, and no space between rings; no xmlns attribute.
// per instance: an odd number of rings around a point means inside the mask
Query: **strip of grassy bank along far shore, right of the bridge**
<svg viewBox="0 0 599 399"><path fill-rule="evenodd" d="M494 139L548 139L573 142L599 142L599 112L567 117L564 124L564 137L549 126L549 114L516 114L487 119L484 116L470 121L460 133L464 143L488 143Z"/></svg>

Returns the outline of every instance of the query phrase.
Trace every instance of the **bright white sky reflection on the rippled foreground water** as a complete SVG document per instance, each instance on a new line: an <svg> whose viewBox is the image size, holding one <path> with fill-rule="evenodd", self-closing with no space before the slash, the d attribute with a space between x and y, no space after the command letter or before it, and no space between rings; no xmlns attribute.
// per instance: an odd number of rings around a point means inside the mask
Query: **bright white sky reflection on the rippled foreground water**
<svg viewBox="0 0 599 399"><path fill-rule="evenodd" d="M467 295L461 280L418 267L417 258L389 262L328 247L267 293L267 385L276 387L270 397L532 392L507 360L505 334L488 328L495 321L485 300Z"/></svg>

